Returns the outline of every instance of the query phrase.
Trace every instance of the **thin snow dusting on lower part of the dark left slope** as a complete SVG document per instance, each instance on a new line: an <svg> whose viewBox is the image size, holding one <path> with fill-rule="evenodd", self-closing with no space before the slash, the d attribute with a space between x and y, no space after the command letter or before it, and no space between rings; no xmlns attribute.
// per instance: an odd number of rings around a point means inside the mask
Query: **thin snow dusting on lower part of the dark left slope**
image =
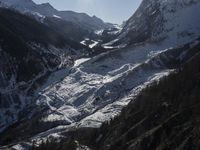
<svg viewBox="0 0 200 150"><path fill-rule="evenodd" d="M26 107L28 107L32 103L33 97L29 95L28 92L30 92L34 84L37 82L37 80L44 77L47 74L47 72L55 72L56 70L62 69L63 67L68 68L72 66L73 65L72 59L75 59L76 57L78 57L78 54L74 56L71 55L71 51L73 49L69 47L59 49L59 48L54 47L53 45L49 45L49 48L47 49L35 43L29 43L29 45L35 51L40 50L41 54L54 55L54 60L57 58L60 61L60 64L58 64L58 66L51 67L48 65L50 60L48 58L43 57L42 58L43 62L41 63L44 63L42 64L43 66L45 66L44 70L41 71L36 76L34 76L34 78L29 80L28 82L25 82L25 81L17 82L16 73L13 73L12 77L8 80L6 74L4 72L1 72L0 78L4 80L4 84L1 83L0 93L1 93L1 96L7 95L8 99L7 99L7 104L6 102L2 103L2 108L0 108L0 132L4 131L7 127L12 125L13 123L16 123L17 121L19 121L19 116L18 116L19 113L23 111L24 109L26 109ZM76 52L78 53L78 51ZM5 58L7 58L8 60L10 59L9 56L5 56ZM30 59L30 58L27 58L27 59ZM54 61L54 60L51 60L51 61ZM9 65L12 66L12 64L9 64ZM62 70L57 71L56 75L58 75L58 77L54 79L50 78L51 81L48 80L47 83L44 84L42 87L38 88L35 91L35 93L38 94L38 92L41 89L45 88L49 84L58 82L60 79L62 79L66 75L66 71L63 71L63 72ZM14 98L16 98L16 100ZM8 104L9 106L6 106Z"/></svg>

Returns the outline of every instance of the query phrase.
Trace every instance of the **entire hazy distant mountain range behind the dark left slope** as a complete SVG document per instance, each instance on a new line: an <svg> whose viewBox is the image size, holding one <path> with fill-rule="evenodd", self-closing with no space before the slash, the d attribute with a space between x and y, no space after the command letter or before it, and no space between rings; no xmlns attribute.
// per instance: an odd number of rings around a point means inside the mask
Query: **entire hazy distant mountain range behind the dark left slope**
<svg viewBox="0 0 200 150"><path fill-rule="evenodd" d="M32 0L0 0L0 3L1 7L17 10L77 42L85 38L99 39L95 34L96 31L114 27L96 16L91 17L73 11L58 11L49 3L35 4Z"/></svg>

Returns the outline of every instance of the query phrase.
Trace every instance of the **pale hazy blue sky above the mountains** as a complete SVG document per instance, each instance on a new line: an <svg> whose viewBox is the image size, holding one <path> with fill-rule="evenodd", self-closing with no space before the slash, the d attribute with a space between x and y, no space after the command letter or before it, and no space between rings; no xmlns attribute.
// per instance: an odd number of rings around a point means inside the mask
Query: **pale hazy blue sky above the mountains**
<svg viewBox="0 0 200 150"><path fill-rule="evenodd" d="M73 10L96 15L106 22L121 24L138 8L142 0L33 0L49 2L58 10Z"/></svg>

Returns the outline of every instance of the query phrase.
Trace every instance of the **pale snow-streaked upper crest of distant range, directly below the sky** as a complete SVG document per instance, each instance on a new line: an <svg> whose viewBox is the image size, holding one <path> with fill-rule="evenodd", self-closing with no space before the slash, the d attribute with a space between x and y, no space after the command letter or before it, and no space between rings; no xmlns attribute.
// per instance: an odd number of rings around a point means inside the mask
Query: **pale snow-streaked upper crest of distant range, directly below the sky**
<svg viewBox="0 0 200 150"><path fill-rule="evenodd" d="M72 11L58 11L49 3L35 4L32 0L1 0L2 3L23 13L38 13L45 17L62 18L65 21L79 24L85 30L94 31L109 28L110 24L104 23L101 19L90 17L85 13L76 13Z"/></svg>

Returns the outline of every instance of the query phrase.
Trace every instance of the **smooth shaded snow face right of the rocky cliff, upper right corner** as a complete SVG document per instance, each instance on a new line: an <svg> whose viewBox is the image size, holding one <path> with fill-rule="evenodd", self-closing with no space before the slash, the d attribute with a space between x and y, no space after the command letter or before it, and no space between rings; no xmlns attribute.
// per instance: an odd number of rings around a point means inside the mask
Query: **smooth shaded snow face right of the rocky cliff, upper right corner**
<svg viewBox="0 0 200 150"><path fill-rule="evenodd" d="M189 3L190 1L191 0L184 0L183 3ZM186 42L191 42L200 36L200 1L188 7L176 6L174 3L175 2L172 2L172 5L167 5L165 10L164 19L167 21L164 30L167 32L165 34L170 37L168 38L169 42L181 45ZM162 7L165 7L165 4L163 4L163 6L161 5L160 9L162 9ZM173 7L177 7L174 13L168 10Z"/></svg>

